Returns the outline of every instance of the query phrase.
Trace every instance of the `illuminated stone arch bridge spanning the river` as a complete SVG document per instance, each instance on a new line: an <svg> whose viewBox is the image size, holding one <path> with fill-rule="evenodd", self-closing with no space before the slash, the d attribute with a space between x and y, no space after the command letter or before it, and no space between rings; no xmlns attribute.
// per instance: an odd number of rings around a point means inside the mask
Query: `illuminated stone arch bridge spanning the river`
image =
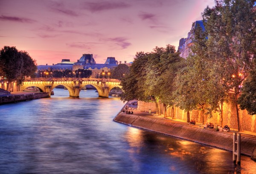
<svg viewBox="0 0 256 174"><path fill-rule="evenodd" d="M31 78L23 82L20 91L34 86L38 87L41 92L49 93L50 96L55 87L63 85L67 88L71 97L79 97L81 89L90 84L96 88L99 97L108 97L112 88L122 88L120 82L118 79L112 78Z"/></svg>

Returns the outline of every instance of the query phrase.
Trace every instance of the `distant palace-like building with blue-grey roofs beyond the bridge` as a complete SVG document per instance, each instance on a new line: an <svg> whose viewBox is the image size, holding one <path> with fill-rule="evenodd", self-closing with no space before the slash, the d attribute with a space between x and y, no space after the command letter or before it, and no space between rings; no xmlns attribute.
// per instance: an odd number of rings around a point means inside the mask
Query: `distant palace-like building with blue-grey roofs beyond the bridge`
<svg viewBox="0 0 256 174"><path fill-rule="evenodd" d="M61 63L52 65L38 65L38 71L65 71L71 70L75 73L76 70L85 69L92 71L92 78L98 77L102 71L108 72L118 65L118 61L114 57L108 57L105 64L96 64L92 54L83 54L77 62L70 62L70 59L62 59Z"/></svg>

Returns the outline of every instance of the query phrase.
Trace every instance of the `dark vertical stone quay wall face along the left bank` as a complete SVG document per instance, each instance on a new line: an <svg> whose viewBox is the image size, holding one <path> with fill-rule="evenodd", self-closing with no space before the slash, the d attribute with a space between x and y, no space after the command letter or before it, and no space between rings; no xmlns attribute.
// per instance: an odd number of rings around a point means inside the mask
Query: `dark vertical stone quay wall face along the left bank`
<svg viewBox="0 0 256 174"><path fill-rule="evenodd" d="M41 99L49 97L49 93L31 93L31 94L22 94L22 95L10 95L0 97L0 104L21 102L26 100Z"/></svg>

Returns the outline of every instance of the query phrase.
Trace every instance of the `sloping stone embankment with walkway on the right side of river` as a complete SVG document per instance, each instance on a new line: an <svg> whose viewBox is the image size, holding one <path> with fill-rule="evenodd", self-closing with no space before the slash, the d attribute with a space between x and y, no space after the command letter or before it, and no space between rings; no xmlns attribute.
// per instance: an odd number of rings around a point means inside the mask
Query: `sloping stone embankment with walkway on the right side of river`
<svg viewBox="0 0 256 174"><path fill-rule="evenodd" d="M140 128L146 131L160 133L166 136L185 139L202 145L233 151L233 132L204 129L198 125L185 122L175 122L146 112L134 111L134 114L120 112L114 121ZM241 134L241 154L256 159L256 136Z"/></svg>

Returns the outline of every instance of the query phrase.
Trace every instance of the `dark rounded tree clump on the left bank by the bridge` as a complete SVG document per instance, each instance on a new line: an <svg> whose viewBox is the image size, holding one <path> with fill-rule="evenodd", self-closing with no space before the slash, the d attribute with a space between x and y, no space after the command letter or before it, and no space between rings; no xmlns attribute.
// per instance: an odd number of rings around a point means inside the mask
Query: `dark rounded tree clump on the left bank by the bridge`
<svg viewBox="0 0 256 174"><path fill-rule="evenodd" d="M4 46L0 50L0 73L7 81L17 81L17 84L21 84L26 76L35 74L35 64L35 60L32 60L27 52L18 51L15 46Z"/></svg>

